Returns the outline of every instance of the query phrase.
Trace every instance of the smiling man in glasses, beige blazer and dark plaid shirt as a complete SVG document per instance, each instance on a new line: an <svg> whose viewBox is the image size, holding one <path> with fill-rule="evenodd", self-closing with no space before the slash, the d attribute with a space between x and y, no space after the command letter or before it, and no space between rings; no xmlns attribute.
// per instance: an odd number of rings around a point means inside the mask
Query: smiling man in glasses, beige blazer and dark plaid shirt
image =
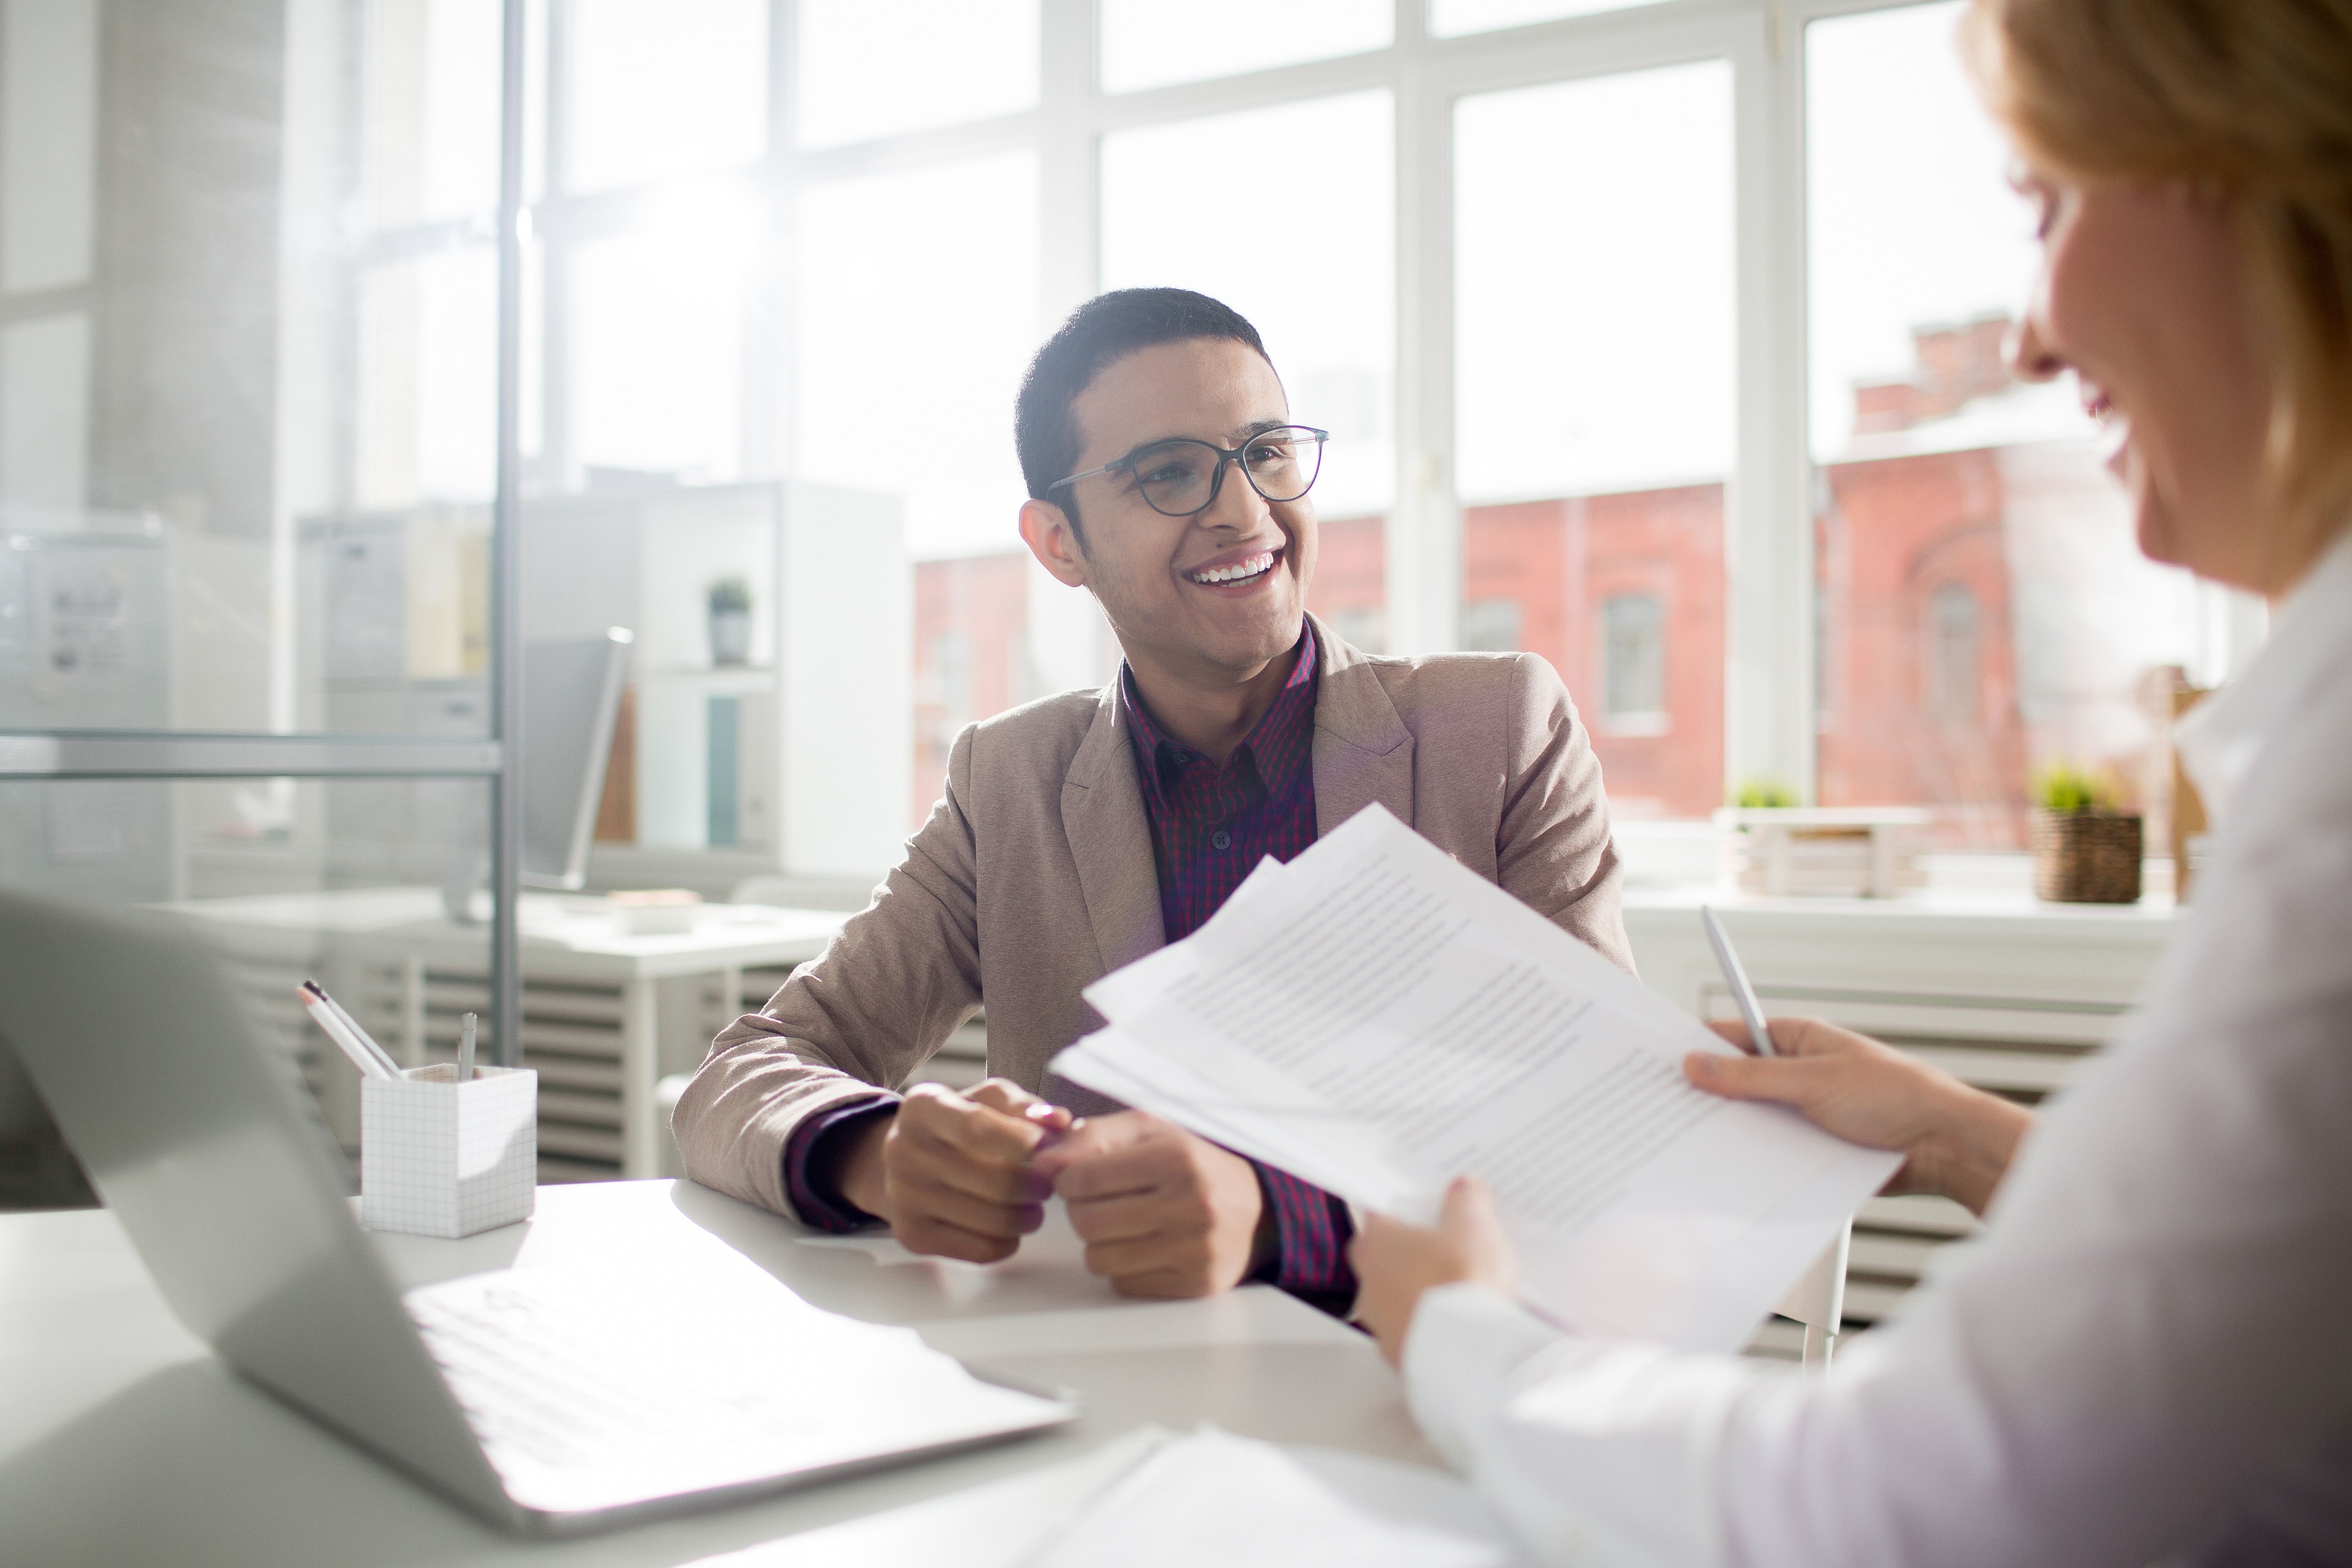
<svg viewBox="0 0 2352 1568"><path fill-rule="evenodd" d="M1089 983L1371 802L1630 966L1599 764L1552 668L1371 658L1308 616L1324 440L1256 329L1202 294L1103 294L1037 350L1021 538L1094 595L1127 661L957 736L873 905L680 1098L696 1180L983 1262L1056 1192L1087 1267L1129 1295L1263 1279L1352 1305L1345 1204L1044 1081L1101 1025ZM990 1081L894 1093L983 1004Z"/></svg>

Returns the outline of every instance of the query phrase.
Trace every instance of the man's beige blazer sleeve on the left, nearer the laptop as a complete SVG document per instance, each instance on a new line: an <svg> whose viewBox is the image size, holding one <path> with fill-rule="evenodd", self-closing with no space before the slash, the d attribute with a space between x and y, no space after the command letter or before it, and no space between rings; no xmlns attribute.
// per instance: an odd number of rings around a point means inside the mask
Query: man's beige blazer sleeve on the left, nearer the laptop
<svg viewBox="0 0 2352 1568"><path fill-rule="evenodd" d="M974 731L948 752L948 788L875 900L736 1018L677 1100L687 1175L793 1218L783 1152L793 1128L896 1088L981 1001L971 799Z"/></svg>

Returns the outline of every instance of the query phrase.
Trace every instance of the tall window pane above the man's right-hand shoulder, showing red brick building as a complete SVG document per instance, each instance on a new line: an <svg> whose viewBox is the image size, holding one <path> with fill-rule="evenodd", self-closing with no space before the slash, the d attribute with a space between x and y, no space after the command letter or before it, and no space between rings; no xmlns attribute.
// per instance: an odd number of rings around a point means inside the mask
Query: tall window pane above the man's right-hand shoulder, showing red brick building
<svg viewBox="0 0 2352 1568"><path fill-rule="evenodd" d="M1552 661L1618 816L1705 816L1724 776L1731 66L1465 96L1454 169L1463 642ZM1486 618L1505 602L1508 644Z"/></svg>

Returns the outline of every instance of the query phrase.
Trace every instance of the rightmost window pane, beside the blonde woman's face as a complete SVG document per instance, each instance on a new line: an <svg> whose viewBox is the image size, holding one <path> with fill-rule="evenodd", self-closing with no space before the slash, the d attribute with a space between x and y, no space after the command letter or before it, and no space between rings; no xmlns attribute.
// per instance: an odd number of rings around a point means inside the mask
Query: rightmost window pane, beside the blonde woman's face
<svg viewBox="0 0 2352 1568"><path fill-rule="evenodd" d="M1818 795L2025 842L2027 780L2105 769L2161 806L2169 689L2225 672L2187 574L2131 538L2070 383L2009 374L2034 268L1957 5L1806 31Z"/></svg>

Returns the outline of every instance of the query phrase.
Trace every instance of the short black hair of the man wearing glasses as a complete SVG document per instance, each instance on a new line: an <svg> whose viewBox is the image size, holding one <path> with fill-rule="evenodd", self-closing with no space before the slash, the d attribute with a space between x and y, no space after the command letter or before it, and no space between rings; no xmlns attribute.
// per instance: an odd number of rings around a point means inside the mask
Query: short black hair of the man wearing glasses
<svg viewBox="0 0 2352 1568"><path fill-rule="evenodd" d="M1192 289L1112 289L1073 310L1030 360L1014 402L1014 444L1030 496L1056 501L1075 527L1077 498L1068 489L1047 494L1049 484L1077 470L1082 437L1070 404L1112 360L1188 339L1230 339L1265 357L1258 329L1240 310Z"/></svg>

